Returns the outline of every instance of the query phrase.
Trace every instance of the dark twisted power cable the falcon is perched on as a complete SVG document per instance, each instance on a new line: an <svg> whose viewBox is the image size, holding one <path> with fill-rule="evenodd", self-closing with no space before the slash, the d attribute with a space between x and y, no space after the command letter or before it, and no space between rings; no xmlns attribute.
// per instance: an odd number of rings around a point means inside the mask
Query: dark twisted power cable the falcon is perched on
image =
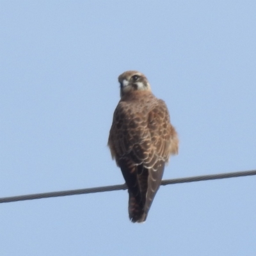
<svg viewBox="0 0 256 256"><path fill-rule="evenodd" d="M194 177L187 177L187 178L180 178L180 179L162 180L161 185L165 186L165 185L169 185L169 184L195 182L195 181L202 181L202 180L227 179L227 178L243 177L243 176L250 176L250 175L256 175L256 170L244 171L244 172L220 173L220 174L212 174L212 175L202 175L202 176L194 176ZM85 188L85 189L74 189L74 190L67 190L67 191L57 191L57 192L49 192L49 193L31 194L31 195L10 196L10 197L0 198L0 204L24 201L24 200L40 199L40 198L82 195L82 194L125 190L125 189L127 189L127 186L126 186L126 184L123 184L123 185L105 186L105 187L98 187L98 188Z"/></svg>

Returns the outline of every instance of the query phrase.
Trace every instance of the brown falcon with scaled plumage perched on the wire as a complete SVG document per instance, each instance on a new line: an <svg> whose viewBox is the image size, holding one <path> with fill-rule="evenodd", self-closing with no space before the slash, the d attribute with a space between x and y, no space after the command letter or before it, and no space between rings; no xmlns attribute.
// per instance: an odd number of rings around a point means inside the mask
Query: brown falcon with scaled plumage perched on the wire
<svg viewBox="0 0 256 256"><path fill-rule="evenodd" d="M165 102L151 91L147 77L129 70L118 77L120 101L109 131L111 156L120 167L129 193L129 218L146 221L170 155L179 138Z"/></svg>

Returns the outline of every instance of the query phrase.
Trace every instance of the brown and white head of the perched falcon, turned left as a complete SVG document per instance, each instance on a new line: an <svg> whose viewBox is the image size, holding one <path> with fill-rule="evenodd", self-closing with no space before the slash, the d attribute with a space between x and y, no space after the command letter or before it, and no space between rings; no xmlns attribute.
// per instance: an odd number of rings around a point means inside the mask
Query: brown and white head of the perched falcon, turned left
<svg viewBox="0 0 256 256"><path fill-rule="evenodd" d="M125 71L118 77L120 83L120 95L135 91L151 91L147 77L138 71Z"/></svg>

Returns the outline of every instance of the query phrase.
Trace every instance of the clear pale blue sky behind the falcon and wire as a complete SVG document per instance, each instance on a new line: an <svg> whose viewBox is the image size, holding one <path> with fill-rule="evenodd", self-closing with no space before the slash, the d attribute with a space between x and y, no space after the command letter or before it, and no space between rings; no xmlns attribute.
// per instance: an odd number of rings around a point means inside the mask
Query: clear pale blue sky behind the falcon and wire
<svg viewBox="0 0 256 256"><path fill-rule="evenodd" d="M180 138L164 179L256 168L256 2L0 1L0 197L123 184L108 134L140 70ZM0 255L256 255L256 177L0 205Z"/></svg>

